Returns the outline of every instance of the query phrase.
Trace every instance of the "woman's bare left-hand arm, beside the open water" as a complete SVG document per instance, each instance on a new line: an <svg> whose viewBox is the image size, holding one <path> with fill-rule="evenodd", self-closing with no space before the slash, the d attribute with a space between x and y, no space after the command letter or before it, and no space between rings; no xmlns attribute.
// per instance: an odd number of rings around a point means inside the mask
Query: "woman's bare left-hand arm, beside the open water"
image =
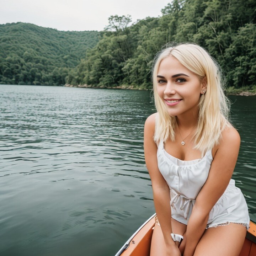
<svg viewBox="0 0 256 256"><path fill-rule="evenodd" d="M154 142L156 113L149 116L144 128L144 153L145 162L152 182L153 197L156 214L164 235L167 254L180 255L180 251L171 238L171 207L170 207L170 188L158 169L157 146Z"/></svg>

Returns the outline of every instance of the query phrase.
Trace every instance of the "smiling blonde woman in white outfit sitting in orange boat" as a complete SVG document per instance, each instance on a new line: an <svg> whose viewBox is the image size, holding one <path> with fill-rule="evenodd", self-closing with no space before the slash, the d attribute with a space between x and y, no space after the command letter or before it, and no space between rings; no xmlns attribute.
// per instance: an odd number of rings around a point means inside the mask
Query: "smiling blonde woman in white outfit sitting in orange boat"
<svg viewBox="0 0 256 256"><path fill-rule="evenodd" d="M231 180L240 137L218 65L195 44L166 48L154 63L157 113L144 131L158 217L150 255L239 255L250 219Z"/></svg>

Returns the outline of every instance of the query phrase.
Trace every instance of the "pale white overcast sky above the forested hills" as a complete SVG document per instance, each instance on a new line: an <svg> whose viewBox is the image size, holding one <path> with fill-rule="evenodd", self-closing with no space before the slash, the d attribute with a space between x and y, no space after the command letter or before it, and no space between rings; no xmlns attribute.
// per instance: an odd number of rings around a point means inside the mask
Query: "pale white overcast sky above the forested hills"
<svg viewBox="0 0 256 256"><path fill-rule="evenodd" d="M111 15L161 16L171 0L0 0L0 24L33 23L64 31L103 30Z"/></svg>

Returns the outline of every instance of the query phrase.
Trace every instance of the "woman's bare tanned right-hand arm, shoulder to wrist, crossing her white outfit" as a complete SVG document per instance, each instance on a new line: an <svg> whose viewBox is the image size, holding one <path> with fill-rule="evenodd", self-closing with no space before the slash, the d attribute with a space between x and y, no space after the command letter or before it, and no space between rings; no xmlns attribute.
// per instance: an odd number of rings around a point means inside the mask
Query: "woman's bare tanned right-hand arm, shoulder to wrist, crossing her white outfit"
<svg viewBox="0 0 256 256"><path fill-rule="evenodd" d="M210 210L224 193L233 174L240 147L240 136L235 128L226 128L215 148L209 175L197 195L186 231L183 256L192 256L208 222ZM213 152L214 153L214 152Z"/></svg>

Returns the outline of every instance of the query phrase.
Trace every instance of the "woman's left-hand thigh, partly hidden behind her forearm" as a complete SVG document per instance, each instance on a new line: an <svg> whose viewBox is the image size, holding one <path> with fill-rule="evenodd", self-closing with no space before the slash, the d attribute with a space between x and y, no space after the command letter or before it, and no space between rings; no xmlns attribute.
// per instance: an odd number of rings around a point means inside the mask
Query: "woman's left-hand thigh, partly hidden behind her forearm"
<svg viewBox="0 0 256 256"><path fill-rule="evenodd" d="M172 219L172 232L175 234L183 235L186 231L187 226ZM153 236L151 239L150 256L159 256L166 254L166 247L164 241L164 235L162 234L161 227L155 224Z"/></svg>

